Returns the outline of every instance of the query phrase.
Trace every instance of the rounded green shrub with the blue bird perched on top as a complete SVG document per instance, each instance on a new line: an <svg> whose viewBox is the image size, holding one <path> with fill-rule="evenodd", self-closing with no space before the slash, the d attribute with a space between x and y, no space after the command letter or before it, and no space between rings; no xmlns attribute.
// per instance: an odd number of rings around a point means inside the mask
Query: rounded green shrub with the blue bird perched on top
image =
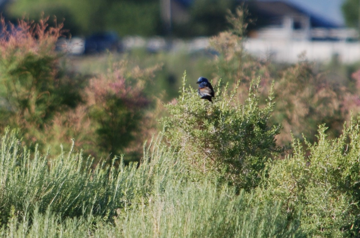
<svg viewBox="0 0 360 238"><path fill-rule="evenodd" d="M166 105L169 116L163 118L163 135L171 150L189 166L189 173L223 174L239 188L251 189L260 182L266 161L279 154L275 136L278 125L268 124L273 108L269 103L258 106L257 84L251 84L248 100L241 105L234 96L237 85L215 87L213 104L198 97L195 90L185 89L185 77L179 100Z"/></svg>

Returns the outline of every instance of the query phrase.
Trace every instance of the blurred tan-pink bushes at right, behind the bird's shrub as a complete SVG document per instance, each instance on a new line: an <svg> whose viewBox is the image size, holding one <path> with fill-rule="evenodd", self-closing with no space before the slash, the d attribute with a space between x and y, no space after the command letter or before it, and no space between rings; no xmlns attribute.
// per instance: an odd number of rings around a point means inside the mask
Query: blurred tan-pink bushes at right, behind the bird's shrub
<svg viewBox="0 0 360 238"><path fill-rule="evenodd" d="M329 136L338 137L343 123L351 119L351 113L359 112L359 74L351 69L350 75L341 77L343 69L337 62L324 70L308 61L306 54L300 55L298 63L293 65L274 65L271 59L253 58L243 48L248 26L246 17L246 10L237 9L228 17L231 29L211 38L211 46L219 52L212 62L217 69L214 80L238 82L237 97L245 102L248 85L254 78L261 77L260 105L267 104L268 92L273 88L276 103L269 120L282 125L276 137L279 145L291 143L292 135L316 141L320 124L326 124Z"/></svg>

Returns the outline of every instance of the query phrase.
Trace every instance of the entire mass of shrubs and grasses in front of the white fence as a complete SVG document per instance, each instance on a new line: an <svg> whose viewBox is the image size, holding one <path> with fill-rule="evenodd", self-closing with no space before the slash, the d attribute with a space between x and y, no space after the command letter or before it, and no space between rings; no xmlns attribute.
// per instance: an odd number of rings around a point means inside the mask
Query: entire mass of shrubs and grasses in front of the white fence
<svg viewBox="0 0 360 238"><path fill-rule="evenodd" d="M212 38L213 103L186 73L161 99L161 67L178 72L159 59L184 55L114 55L83 75L55 51L62 26L4 32L0 236L359 236L360 73L257 61L243 19Z"/></svg>

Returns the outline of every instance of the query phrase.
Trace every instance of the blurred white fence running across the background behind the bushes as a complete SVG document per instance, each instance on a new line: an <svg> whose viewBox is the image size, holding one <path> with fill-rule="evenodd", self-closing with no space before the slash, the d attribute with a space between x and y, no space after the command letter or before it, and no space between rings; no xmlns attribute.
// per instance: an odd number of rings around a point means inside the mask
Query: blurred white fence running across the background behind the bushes
<svg viewBox="0 0 360 238"><path fill-rule="evenodd" d="M207 37L198 37L192 40L172 40L153 37L125 37L122 40L124 50L146 47L149 51L185 51L194 52L208 49L210 46ZM74 37L67 42L66 49L72 54L84 52L84 39ZM244 42L245 49L259 58L270 58L277 62L296 63L299 55L305 53L306 59L311 61L329 62L334 56L342 63L360 61L360 42L346 41L295 41L248 38Z"/></svg>

